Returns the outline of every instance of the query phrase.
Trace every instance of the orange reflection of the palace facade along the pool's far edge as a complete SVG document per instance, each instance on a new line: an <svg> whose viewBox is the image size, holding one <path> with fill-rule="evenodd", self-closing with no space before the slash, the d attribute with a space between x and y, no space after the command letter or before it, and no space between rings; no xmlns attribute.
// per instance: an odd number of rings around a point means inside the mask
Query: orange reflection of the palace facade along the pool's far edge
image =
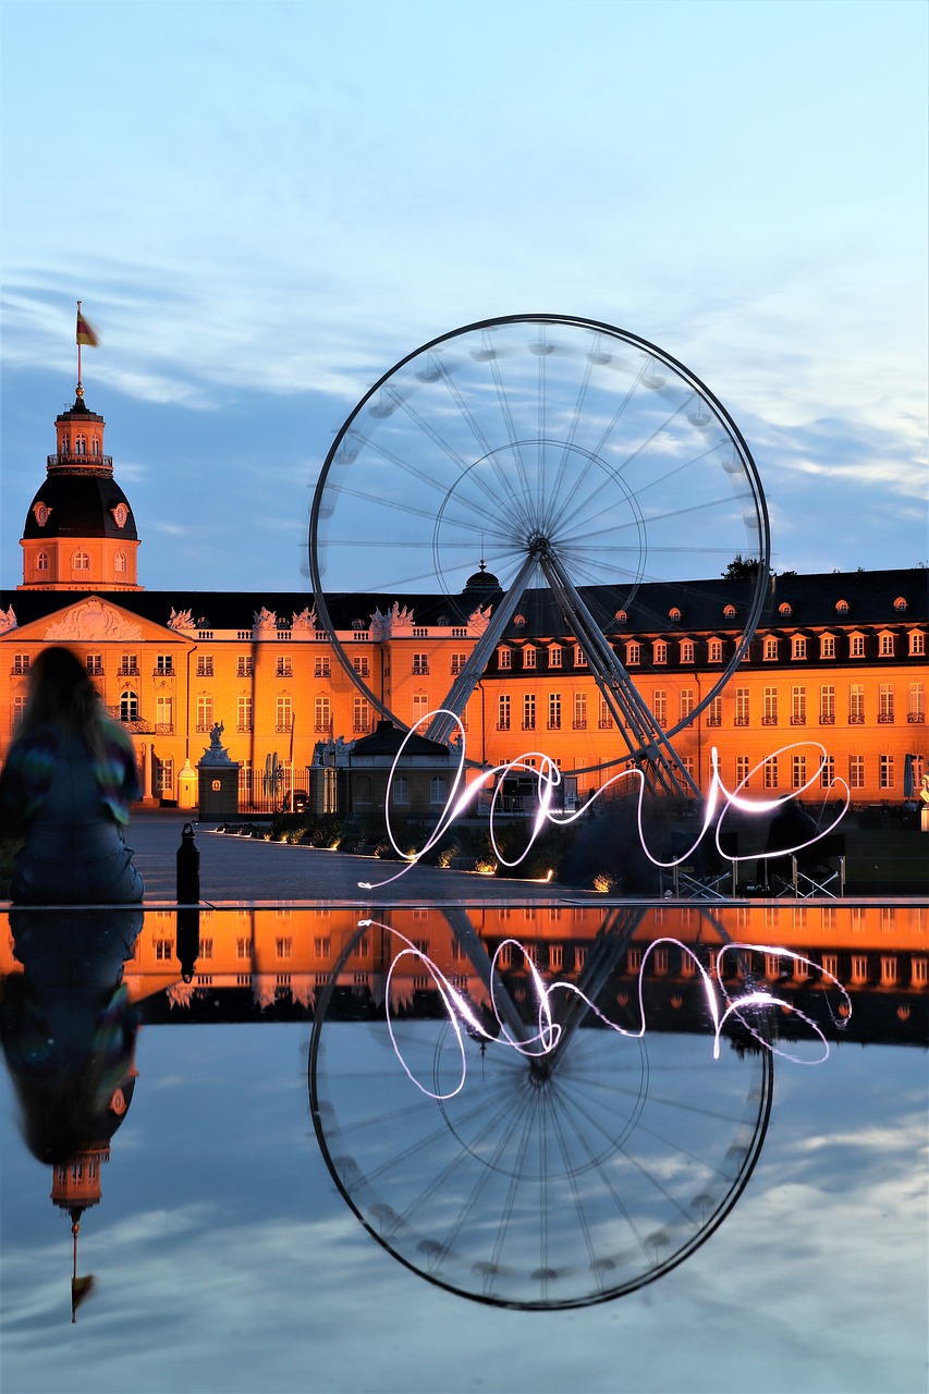
<svg viewBox="0 0 929 1394"><path fill-rule="evenodd" d="M643 948L667 937L695 948L710 970L725 942L783 945L809 958L813 967L781 962L777 952L762 948L752 963L759 981L815 993L823 987L817 972L822 967L845 984L852 999L880 999L880 1013L891 1025L896 1020L897 1027L909 1019L905 1013L912 1012L912 1029L919 1029L929 987L929 910L902 902L724 905L711 910L657 906L636 912L551 905L470 906L466 910L405 906L368 913L405 934L476 1001L484 995L484 986L460 945L456 926L460 930L466 924L491 953L501 940L519 940L545 976L576 983L604 926L612 924L611 916L618 913L635 913L636 917L629 944L615 965L617 976L629 981L637 977ZM148 910L124 981L133 999L146 999L144 1015L148 1020L190 1019L188 1012L197 1013L201 1006L211 1020L248 1020L262 1013L293 1018L312 1009L339 955L356 934L358 917L357 909L328 906L199 910L195 972L190 983L181 983L180 963L192 955L179 944L177 913ZM18 963L8 937L1 951L0 974L15 973ZM343 966L340 986L365 997L395 952L391 937L371 926ZM508 966L519 967L512 960ZM668 988L681 988L693 983L693 963L674 947L661 948L649 956L646 977ZM428 970L416 960L403 966L400 980L411 995L434 991ZM670 991L668 1022L686 994L678 1006L674 997Z"/></svg>

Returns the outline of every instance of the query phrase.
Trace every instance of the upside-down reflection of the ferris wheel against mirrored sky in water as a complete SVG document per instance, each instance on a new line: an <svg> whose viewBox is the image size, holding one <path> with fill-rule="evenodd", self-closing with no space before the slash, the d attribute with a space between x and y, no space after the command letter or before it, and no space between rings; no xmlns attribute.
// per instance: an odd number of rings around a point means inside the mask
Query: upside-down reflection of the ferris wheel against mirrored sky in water
<svg viewBox="0 0 929 1394"><path fill-rule="evenodd" d="M352 945L354 947L354 945ZM345 955L343 955L345 962ZM333 981L335 977L333 974ZM466 1040L441 1020L314 1026L310 1096L325 1163L384 1249L448 1291L497 1306L622 1296L688 1259L757 1161L769 1051L709 1034L618 1036L583 1025L551 1058Z"/></svg>

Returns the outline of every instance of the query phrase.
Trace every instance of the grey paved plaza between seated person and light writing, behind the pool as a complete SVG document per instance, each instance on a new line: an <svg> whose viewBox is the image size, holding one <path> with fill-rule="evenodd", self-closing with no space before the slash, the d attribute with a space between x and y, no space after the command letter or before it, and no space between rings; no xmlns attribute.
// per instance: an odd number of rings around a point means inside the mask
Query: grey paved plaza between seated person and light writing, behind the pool
<svg viewBox="0 0 929 1394"><path fill-rule="evenodd" d="M135 864L145 881L146 901L174 901L177 895L177 848L188 818L174 810L134 813L127 842L135 849ZM358 881L375 887L396 875L398 861L360 857L322 848L290 846L218 832L215 824L194 822L199 850L199 895L220 901L557 901L587 899L583 892L467 871L413 867L382 891L365 891ZM590 896L590 899L598 899Z"/></svg>

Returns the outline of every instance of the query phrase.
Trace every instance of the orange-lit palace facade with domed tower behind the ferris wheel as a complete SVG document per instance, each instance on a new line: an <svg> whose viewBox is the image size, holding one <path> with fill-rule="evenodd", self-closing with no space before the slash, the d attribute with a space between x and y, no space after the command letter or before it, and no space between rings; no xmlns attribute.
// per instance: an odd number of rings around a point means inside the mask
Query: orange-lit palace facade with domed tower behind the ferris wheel
<svg viewBox="0 0 929 1394"><path fill-rule="evenodd" d="M307 790L325 811L352 811L350 783L326 785L381 714L356 687L312 597L146 591L138 534L103 453L103 418L81 390L56 420L56 453L22 533L22 584L0 597L0 757L27 697L29 666L50 643L86 662L107 710L131 732L148 800L181 802L181 778L222 723L240 765L240 806ZM880 570L771 579L749 651L718 696L672 736L700 789L711 750L723 781L749 795L833 776L852 803L900 803L926 769L929 572ZM743 631L749 581L642 584L608 638L667 730L695 711ZM439 707L483 633L499 591L481 570L458 598L340 595L329 613L352 666L413 723ZM626 750L564 615L526 592L464 714L467 754L502 764L544 751L580 799L617 772L590 771ZM353 746L353 743L356 743ZM820 775L816 743L827 753ZM400 781L405 797L409 781ZM444 779L431 782L444 799ZM395 795L398 790L395 790ZM360 807L360 803L358 803Z"/></svg>

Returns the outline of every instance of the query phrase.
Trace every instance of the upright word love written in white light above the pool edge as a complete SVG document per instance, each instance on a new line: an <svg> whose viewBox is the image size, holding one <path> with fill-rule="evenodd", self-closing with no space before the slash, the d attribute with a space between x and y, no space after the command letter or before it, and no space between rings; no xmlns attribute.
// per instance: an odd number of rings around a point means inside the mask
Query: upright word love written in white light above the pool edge
<svg viewBox="0 0 929 1394"><path fill-rule="evenodd" d="M449 792L448 800L445 803L445 807L442 809L442 813L439 814L438 822L432 834L430 835L427 842L420 848L418 852L406 853L402 852L400 848L398 846L396 839L393 836L393 829L391 827L391 789L393 785L393 776L396 774L398 764L403 758L403 751L406 750L407 742L417 732L420 726L427 726L437 715L452 717L460 732L460 753L459 753L458 769L455 772L455 779L452 781L452 789ZM777 799L746 799L743 796L742 790L746 789L749 779L752 779L753 775L756 775L760 769L763 769L764 765L769 763L769 760L776 760L778 756L788 754L791 750L798 750L802 747L812 747L817 750L820 754L819 764L813 769L813 774L806 781L806 783L803 783L799 789L791 789L790 793L781 795ZM530 764L530 761L533 761L533 764ZM534 761L538 761L538 764L536 764ZM703 804L703 825L697 832L692 846L689 846L686 852L681 853L681 856L671 857L668 861L663 861L660 857L653 856L646 842L646 835L642 825L642 807L644 802L646 782L643 772L635 767L629 769L622 769L618 775L614 775L611 779L607 779L607 782L603 783L600 789L591 793L583 809L577 809L575 813L559 813L557 810L552 810L552 803L554 803L555 789L562 782L562 774L555 761L551 758L551 756L547 756L544 751L527 750L524 751L524 754L518 756L516 760L508 760L502 765L492 765L490 769L481 769L480 775L476 779L473 779L470 785L462 788L464 778L464 763L466 763L464 728L459 721L459 718L455 715L455 712L446 711L445 708L438 708L437 711L427 712L425 717L420 718L420 721L417 721L407 730L403 743L400 744L400 749L398 750L393 758L393 764L391 765L391 774L388 775L388 782L386 782L385 809L384 809L386 834L388 838L391 839L391 846L393 848L396 855L407 863L407 866L402 867L392 877L386 877L386 880L378 881L377 884L372 881L358 881L358 887L363 891L372 891L375 889L375 885L377 887L391 885L392 881L398 881L402 875L406 875L410 867L416 866L420 857L425 856L425 853L430 852L437 845L439 838L444 836L444 834L451 828L455 820L463 817L469 811L469 809L477 803L477 799L480 797L480 793L485 788L488 779L494 781L494 792L491 795L491 804L490 804L488 831L491 843L494 846L494 853L498 861L501 861L504 866L508 867L519 866L519 863L523 861L524 857L529 855L533 843L536 842L536 839L538 838L540 832L543 831L547 822L551 822L555 827L568 827L577 818L583 817L584 813L587 813L594 806L597 799L600 799L600 796L607 792L607 789L611 789L614 785L619 785L619 782L624 779L637 779L639 802L636 809L636 818L637 818L639 842L642 843L642 850L653 863L653 866L670 870L671 867L681 866L683 861L688 860L688 857L693 855L693 852L703 841L707 829L713 825L714 820L716 820L714 838L717 850L720 852L721 856L724 855L728 856L728 853L723 853L723 848L720 846L720 834L725 821L725 815L730 811L730 809L738 809L741 813L760 817L771 814L777 809L784 807L784 804L801 799L802 795L805 795L808 790L813 788L816 781L820 779L820 775L823 775L823 772L826 771L829 764L829 754L826 751L826 747L820 746L819 742L816 740L792 742L788 746L781 746L778 750L771 751L771 754L766 756L764 760L759 760L759 763L749 769L749 772L735 786L735 789L727 789L720 775L718 751L717 747L713 746L710 750L710 789ZM538 804L536 809L536 817L533 820L533 825L530 828L529 841L526 843L524 850L512 861L508 861L508 859L504 856L497 842L497 836L494 832L494 817L497 814L499 796L504 790L504 781L506 779L508 775L512 774L530 775L531 778L536 779L538 790ZM844 779L833 779L831 782L824 783L822 788L823 788L823 799L826 799L826 796L831 793L833 789L838 788L844 790L841 810L836 814L831 822L829 822L824 828L819 828L815 836L805 838L802 842L798 842L794 846L778 848L776 852L764 852L764 853L753 852L752 860L763 861L769 860L770 857L791 856L796 852L801 852L803 848L812 846L812 843L819 842L820 838L824 838L829 832L831 832L834 828L838 827L841 820L845 817L845 813L848 811L848 804L851 802L848 785L845 783ZM748 857L728 856L728 860L745 861L748 860Z"/></svg>

